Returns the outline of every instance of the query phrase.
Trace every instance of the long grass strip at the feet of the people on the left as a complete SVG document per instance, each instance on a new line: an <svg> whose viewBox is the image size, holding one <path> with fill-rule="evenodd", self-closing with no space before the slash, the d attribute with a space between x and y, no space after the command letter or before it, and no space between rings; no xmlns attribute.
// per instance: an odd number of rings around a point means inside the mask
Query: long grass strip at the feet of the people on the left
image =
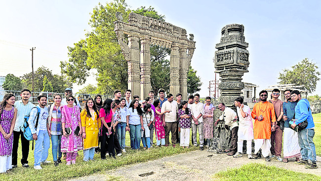
<svg viewBox="0 0 321 181"><path fill-rule="evenodd" d="M191 134L192 135L192 134ZM170 140L171 138L169 138ZM154 143L156 139L154 136ZM102 173L107 170L115 169L124 165L130 165L134 163L146 162L149 160L159 159L165 156L170 156L179 153L185 153L193 150L197 150L198 147L191 146L189 149L184 149L177 145L176 148L172 146L168 147L155 147L150 150L131 150L126 149L126 153L122 156L117 157L117 159L107 158L106 160L100 159L100 154L94 155L94 161L84 162L83 152L79 151L79 156L76 159L75 165L66 165L66 160L55 167L53 165L53 158L51 153L51 145L49 148L48 159L52 163L47 165L41 165L42 170L35 170L34 165L34 152L31 149L32 142L30 144L29 151L29 168L24 168L20 164L21 159L21 144L19 143L18 148L18 167L13 169L10 174L0 174L0 181L61 181L71 178L77 178L82 176L91 175L94 173ZM126 145L130 145L130 137L128 132L126 132ZM192 145L192 144L191 144ZM142 144L141 144L142 146Z"/></svg>

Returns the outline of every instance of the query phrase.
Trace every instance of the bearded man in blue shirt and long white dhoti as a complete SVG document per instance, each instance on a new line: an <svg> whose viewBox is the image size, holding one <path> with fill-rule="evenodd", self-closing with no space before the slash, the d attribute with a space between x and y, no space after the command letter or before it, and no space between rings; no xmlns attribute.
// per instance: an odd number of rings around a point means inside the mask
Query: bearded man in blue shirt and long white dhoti
<svg viewBox="0 0 321 181"><path fill-rule="evenodd" d="M292 91L286 89L284 91L285 102L283 103L283 119L284 119L284 132L283 132L283 162L287 163L288 158L294 158L300 161L300 145L298 142L298 133L289 128L289 121L294 116L294 108L296 102L291 99Z"/></svg>

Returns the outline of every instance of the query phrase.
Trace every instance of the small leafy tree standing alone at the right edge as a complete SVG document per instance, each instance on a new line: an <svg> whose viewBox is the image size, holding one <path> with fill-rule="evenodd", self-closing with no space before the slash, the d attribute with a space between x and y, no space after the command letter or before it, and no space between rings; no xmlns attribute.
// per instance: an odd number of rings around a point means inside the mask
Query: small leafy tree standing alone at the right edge
<svg viewBox="0 0 321 181"><path fill-rule="evenodd" d="M284 69L280 72L279 79L281 84L303 85L303 90L312 93L316 90L317 82L320 80L318 66L308 58L302 60L297 65L291 67L292 70Z"/></svg>

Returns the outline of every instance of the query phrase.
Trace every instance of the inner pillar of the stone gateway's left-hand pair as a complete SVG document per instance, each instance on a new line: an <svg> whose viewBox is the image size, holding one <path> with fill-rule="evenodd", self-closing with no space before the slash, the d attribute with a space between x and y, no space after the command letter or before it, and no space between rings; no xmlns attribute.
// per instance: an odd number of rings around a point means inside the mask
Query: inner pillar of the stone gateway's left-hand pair
<svg viewBox="0 0 321 181"><path fill-rule="evenodd" d="M151 90L151 52L150 39L140 39L140 99L148 96Z"/></svg>

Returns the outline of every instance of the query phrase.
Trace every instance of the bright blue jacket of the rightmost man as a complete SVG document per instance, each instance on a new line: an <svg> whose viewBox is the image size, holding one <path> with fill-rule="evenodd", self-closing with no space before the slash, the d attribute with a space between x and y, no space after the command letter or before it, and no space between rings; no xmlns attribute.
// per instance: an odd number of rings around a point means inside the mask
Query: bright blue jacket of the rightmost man
<svg viewBox="0 0 321 181"><path fill-rule="evenodd" d="M312 118L312 112L310 103L307 99L301 99L295 107L295 124L298 125L301 122L308 120L308 127L306 129L314 129L314 122Z"/></svg>

